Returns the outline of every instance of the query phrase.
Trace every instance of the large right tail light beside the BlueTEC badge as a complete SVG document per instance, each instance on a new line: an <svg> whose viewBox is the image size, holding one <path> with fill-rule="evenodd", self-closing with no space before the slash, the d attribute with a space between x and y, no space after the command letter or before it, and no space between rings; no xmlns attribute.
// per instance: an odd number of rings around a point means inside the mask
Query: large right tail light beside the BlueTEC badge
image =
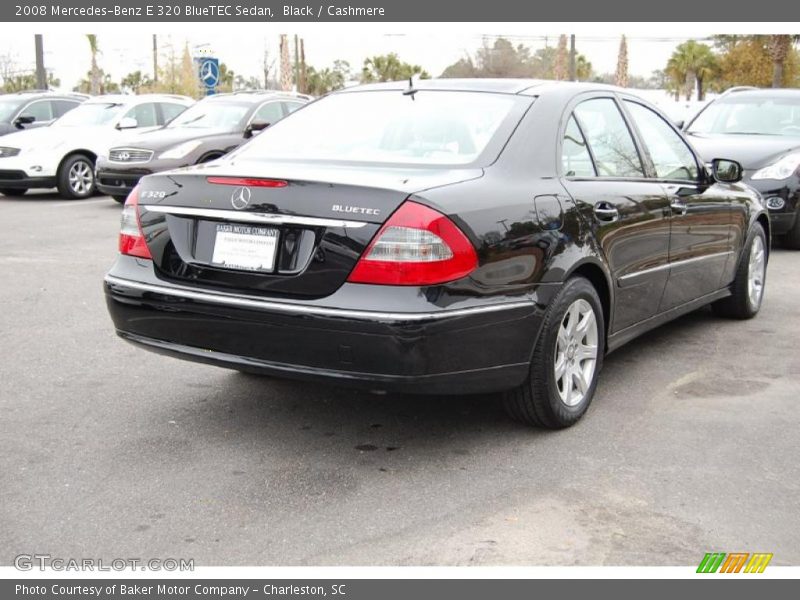
<svg viewBox="0 0 800 600"><path fill-rule="evenodd" d="M455 223L407 201L384 223L347 280L434 285L460 279L477 266L475 248Z"/></svg>

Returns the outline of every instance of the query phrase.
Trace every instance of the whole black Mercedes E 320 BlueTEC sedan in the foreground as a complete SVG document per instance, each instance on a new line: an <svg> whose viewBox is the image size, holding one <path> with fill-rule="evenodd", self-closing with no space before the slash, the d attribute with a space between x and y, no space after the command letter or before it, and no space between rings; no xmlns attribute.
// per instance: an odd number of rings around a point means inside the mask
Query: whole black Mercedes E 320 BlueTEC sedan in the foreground
<svg viewBox="0 0 800 600"><path fill-rule="evenodd" d="M105 280L117 332L243 371L502 391L565 427L603 356L713 303L761 305L769 221L624 90L390 83L306 105L228 157L144 178Z"/></svg>

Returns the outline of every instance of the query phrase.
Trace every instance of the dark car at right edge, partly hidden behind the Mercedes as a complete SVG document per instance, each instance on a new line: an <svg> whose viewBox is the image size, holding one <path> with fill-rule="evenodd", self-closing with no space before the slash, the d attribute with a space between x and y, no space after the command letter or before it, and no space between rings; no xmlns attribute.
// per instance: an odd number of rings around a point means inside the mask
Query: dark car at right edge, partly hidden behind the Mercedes
<svg viewBox="0 0 800 600"><path fill-rule="evenodd" d="M800 250L800 90L735 88L685 127L707 160L727 156L761 192L772 233Z"/></svg>

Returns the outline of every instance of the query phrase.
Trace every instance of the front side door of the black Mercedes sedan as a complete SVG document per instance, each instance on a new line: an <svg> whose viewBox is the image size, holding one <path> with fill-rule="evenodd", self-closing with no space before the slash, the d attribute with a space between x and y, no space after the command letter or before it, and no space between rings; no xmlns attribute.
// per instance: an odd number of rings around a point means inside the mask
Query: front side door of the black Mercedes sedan
<svg viewBox="0 0 800 600"><path fill-rule="evenodd" d="M695 153L661 115L633 99L623 105L670 200L670 274L659 307L665 311L722 287L733 251L731 202L709 185Z"/></svg>

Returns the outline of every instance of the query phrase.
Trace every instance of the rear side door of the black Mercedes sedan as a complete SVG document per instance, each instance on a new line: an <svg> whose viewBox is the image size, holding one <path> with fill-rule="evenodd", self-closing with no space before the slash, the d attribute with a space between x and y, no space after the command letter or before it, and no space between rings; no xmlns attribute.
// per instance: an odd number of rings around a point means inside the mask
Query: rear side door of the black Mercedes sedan
<svg viewBox="0 0 800 600"><path fill-rule="evenodd" d="M610 331L652 317L669 276L669 200L647 176L616 98L590 97L574 106L564 131L562 176L611 272Z"/></svg>

